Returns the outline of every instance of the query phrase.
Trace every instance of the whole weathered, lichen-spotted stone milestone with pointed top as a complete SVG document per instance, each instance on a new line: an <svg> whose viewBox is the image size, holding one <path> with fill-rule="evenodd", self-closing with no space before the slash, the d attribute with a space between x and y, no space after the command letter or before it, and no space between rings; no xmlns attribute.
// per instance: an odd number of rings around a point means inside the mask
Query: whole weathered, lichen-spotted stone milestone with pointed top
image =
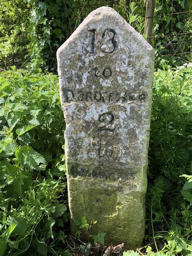
<svg viewBox="0 0 192 256"><path fill-rule="evenodd" d="M153 55L109 7L57 52L71 226L97 220L88 235L106 232L106 245L135 248L144 235Z"/></svg>

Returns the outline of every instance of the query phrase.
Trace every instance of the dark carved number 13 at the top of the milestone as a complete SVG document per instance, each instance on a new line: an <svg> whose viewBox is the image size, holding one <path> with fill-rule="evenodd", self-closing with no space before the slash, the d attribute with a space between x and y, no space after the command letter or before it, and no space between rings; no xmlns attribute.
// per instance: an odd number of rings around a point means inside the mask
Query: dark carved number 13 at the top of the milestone
<svg viewBox="0 0 192 256"><path fill-rule="evenodd" d="M89 30L89 32L92 32L92 39L91 39L91 51L90 53L94 54L95 53L95 39L96 39L96 29L91 29ZM111 32L113 33L113 37L112 38L109 38L107 40L107 42L110 42L113 44L113 49L111 51L105 51L104 49L102 49L102 45L101 45L101 50L105 53L113 53L116 49L117 49L117 41L115 41L115 35L116 35L116 32L115 30L113 29L109 29L107 28L103 34L102 34L102 38L105 38L106 35L107 35L107 32Z"/></svg>

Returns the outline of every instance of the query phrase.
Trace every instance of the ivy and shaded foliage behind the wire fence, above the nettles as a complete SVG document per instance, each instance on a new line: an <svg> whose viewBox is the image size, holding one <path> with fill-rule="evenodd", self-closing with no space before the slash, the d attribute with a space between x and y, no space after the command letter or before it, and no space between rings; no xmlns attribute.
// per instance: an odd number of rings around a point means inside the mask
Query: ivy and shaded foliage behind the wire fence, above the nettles
<svg viewBox="0 0 192 256"><path fill-rule="evenodd" d="M0 3L1 68L17 65L57 71L55 53L83 19L100 6L114 8L140 34L144 32L143 0L4 0ZM173 15L171 15L173 13ZM178 13L178 14L174 14ZM156 0L154 34L156 68L161 60L179 66L190 60L189 0Z"/></svg>

